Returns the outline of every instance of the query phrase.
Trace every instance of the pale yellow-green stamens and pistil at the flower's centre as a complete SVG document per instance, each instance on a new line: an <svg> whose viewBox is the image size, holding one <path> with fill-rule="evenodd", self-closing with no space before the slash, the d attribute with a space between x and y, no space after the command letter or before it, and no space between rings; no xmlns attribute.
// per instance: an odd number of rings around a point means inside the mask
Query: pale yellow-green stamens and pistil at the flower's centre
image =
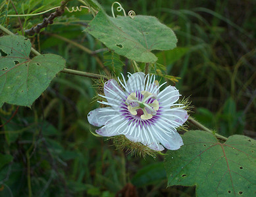
<svg viewBox="0 0 256 197"><path fill-rule="evenodd" d="M141 91L141 95L143 95L143 98L139 99L140 97L136 97L136 93L131 93L126 99L127 108L132 115L140 116L142 120L149 120L159 110L159 102L157 100L149 102L149 99L155 99L157 95L153 95L148 91Z"/></svg>

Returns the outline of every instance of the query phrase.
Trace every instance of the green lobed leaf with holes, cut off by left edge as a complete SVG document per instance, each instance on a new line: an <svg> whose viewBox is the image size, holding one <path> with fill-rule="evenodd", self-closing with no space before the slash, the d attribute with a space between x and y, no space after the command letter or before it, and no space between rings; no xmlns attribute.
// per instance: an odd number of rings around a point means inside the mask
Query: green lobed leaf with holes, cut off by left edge
<svg viewBox="0 0 256 197"><path fill-rule="evenodd" d="M51 80L63 70L65 60L58 55L38 55L30 59L31 43L23 36L0 37L0 104L31 106ZM1 106L0 106L1 107Z"/></svg>

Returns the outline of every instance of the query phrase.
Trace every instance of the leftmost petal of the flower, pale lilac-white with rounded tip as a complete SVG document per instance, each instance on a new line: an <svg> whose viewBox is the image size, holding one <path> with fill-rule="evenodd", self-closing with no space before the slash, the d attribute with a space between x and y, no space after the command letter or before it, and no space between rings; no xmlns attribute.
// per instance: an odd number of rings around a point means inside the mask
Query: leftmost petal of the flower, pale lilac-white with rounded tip
<svg viewBox="0 0 256 197"><path fill-rule="evenodd" d="M101 127L115 116L120 116L120 113L112 108L97 108L88 113L88 121L91 125Z"/></svg>

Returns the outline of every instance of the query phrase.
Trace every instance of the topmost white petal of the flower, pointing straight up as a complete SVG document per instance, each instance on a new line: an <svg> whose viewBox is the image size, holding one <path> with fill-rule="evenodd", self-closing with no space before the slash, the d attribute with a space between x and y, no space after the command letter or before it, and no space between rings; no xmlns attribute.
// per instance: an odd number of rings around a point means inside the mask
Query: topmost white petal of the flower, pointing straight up
<svg viewBox="0 0 256 197"><path fill-rule="evenodd" d="M129 76L127 81L127 89L130 93L135 93L135 91L143 91L143 81L145 78L145 74L143 72L136 72Z"/></svg>

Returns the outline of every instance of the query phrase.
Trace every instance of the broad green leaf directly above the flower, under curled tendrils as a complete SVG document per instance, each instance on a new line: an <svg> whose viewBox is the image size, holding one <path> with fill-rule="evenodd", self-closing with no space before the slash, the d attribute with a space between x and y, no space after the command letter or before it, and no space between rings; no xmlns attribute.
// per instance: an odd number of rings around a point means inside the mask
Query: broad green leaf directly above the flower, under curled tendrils
<svg viewBox="0 0 256 197"><path fill-rule="evenodd" d="M154 16L107 16L99 11L85 30L118 55L138 62L155 62L153 50L176 47L177 39L170 28Z"/></svg>

